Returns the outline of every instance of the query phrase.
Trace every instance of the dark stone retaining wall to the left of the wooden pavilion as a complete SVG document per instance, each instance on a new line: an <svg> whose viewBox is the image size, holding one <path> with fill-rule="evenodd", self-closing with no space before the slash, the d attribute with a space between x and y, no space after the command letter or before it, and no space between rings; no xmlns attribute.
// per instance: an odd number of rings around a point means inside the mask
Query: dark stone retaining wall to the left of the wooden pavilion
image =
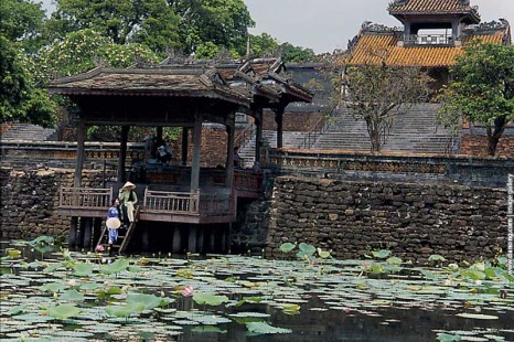
<svg viewBox="0 0 514 342"><path fill-rule="evenodd" d="M1 237L67 236L71 218L58 215L60 186L73 184L73 170L0 168ZM86 170L84 186L101 188L101 171Z"/></svg>

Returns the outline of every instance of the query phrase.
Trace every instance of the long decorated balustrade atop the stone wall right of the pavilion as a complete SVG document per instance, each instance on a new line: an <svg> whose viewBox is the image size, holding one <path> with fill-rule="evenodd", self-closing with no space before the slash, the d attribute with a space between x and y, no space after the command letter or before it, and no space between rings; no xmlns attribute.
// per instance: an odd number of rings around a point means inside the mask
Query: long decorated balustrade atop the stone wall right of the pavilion
<svg viewBox="0 0 514 342"><path fill-rule="evenodd" d="M270 149L266 168L279 174L505 188L514 158L329 153Z"/></svg>

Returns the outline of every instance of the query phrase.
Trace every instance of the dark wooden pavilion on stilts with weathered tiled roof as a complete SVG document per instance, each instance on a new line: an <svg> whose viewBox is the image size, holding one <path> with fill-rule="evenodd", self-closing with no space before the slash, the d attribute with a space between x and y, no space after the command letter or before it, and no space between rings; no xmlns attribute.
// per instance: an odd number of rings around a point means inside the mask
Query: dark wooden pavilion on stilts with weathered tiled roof
<svg viewBox="0 0 514 342"><path fill-rule="evenodd" d="M98 67L85 74L54 81L50 85L50 93L67 96L77 108L74 113L77 122L74 185L61 190L58 207L63 215L72 216L71 242L76 234L78 217L83 217L86 233L83 237L84 246L88 247L94 225L92 220L103 220L110 200L117 194L117 189L88 189L82 184L86 129L92 125L122 128L117 186L127 180L126 156L130 127L157 127L158 132L162 132L162 127L182 128L181 167L168 168L168 182L138 184L139 191L144 190L141 193L142 201L138 203L135 223L119 246L120 252L127 247L140 221L190 224L190 231L194 232L190 234L188 249L193 252L196 245L194 225L235 222L237 199L255 199L261 191L260 171L234 170L236 113L254 119L255 156L258 162L263 109L270 108L276 114L277 145L280 148L285 107L291 101L312 100L307 89L282 77L282 71L283 63L278 58L216 64L178 64L165 61L159 65L122 70ZM226 129L224 170L201 168L204 122L221 124ZM188 156L190 132L192 158ZM153 172L160 172L160 169ZM176 242L173 242L173 249L179 248Z"/></svg>

